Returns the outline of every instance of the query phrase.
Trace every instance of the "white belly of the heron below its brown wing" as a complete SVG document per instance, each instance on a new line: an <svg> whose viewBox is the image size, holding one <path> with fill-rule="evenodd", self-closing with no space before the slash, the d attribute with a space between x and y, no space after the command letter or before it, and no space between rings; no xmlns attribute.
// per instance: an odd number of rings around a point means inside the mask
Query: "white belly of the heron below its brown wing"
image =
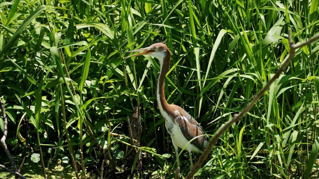
<svg viewBox="0 0 319 179"><path fill-rule="evenodd" d="M165 123L166 126L166 123ZM166 127L167 128L167 127ZM171 135L172 142L174 147L180 147L184 148L187 143L189 142L183 135L181 129L179 128L178 124L173 124L173 128L171 130L167 129L168 133ZM194 151L194 152L201 152L197 147L195 147L193 144L189 143L184 150L187 151Z"/></svg>

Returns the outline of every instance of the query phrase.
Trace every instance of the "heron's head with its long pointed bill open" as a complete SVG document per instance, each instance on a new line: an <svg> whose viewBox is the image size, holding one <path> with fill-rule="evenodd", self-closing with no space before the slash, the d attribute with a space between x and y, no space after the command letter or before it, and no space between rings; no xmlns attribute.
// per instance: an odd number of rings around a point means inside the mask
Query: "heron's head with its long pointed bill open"
<svg viewBox="0 0 319 179"><path fill-rule="evenodd" d="M133 54L124 58L130 58L130 57L134 57L134 56L139 56L139 55L151 55L157 59L159 59L160 62L163 61L163 59L165 58L165 56L167 54L170 54L169 49L167 48L167 46L163 43L156 43L151 45L150 47L146 47L146 48L140 48L137 50L131 50L125 53L131 53L131 52L141 52L138 54Z"/></svg>

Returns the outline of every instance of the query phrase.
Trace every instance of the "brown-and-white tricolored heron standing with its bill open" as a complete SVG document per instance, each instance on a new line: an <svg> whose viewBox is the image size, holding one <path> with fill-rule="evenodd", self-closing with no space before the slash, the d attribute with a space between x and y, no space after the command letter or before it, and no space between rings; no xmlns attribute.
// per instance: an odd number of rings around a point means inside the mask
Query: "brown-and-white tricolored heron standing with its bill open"
<svg viewBox="0 0 319 179"><path fill-rule="evenodd" d="M200 124L197 123L197 121L184 109L174 104L168 104L165 99L164 82L171 60L169 49L163 43L156 43L151 45L150 47L131 50L126 53L131 52L141 53L133 54L125 58L139 55L151 55L159 60L160 72L157 82L156 99L159 106L159 111L165 119L167 132L171 135L172 138L177 159L177 168L180 166L178 158L178 147L183 148L194 137L200 136L191 141L189 145L185 147L185 149L189 152L190 167L192 168L193 161L191 152L194 151L201 153L202 149L204 149L206 145L206 140L203 136L204 132L201 129Z"/></svg>

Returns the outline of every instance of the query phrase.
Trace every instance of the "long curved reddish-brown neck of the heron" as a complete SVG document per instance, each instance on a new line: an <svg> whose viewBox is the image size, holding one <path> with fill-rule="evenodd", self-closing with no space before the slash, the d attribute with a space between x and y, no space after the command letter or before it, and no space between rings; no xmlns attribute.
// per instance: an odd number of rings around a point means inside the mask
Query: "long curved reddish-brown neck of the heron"
<svg viewBox="0 0 319 179"><path fill-rule="evenodd" d="M169 69L170 59L171 59L171 54L169 53L169 51L166 52L166 55L162 59L159 59L160 72L159 72L159 79L157 82L157 103L159 105L161 112L162 110L167 111L167 107L169 105L165 99L164 83L165 83L165 76Z"/></svg>

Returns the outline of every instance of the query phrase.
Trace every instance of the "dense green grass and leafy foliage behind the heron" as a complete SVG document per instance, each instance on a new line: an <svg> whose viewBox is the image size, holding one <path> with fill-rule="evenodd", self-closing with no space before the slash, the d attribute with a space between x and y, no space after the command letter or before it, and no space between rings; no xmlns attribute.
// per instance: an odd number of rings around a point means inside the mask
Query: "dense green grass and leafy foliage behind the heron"
<svg viewBox="0 0 319 179"><path fill-rule="evenodd" d="M159 63L149 56L123 60L123 52L164 41L172 53L168 103L189 111L213 135L287 58L288 29L303 42L319 33L318 15L318 0L3 1L0 97L7 143L21 156L28 126L27 161L41 144L45 166L66 161L71 148L78 169L93 173L88 177L99 177L106 159L108 177L172 178L174 151L155 98ZM196 177L318 175L318 53L318 42L297 51L249 114L221 137ZM131 175L126 161L132 148L123 136L129 136L134 106L141 111L143 171ZM185 151L181 159L185 176ZM71 160L65 163L74 171Z"/></svg>

